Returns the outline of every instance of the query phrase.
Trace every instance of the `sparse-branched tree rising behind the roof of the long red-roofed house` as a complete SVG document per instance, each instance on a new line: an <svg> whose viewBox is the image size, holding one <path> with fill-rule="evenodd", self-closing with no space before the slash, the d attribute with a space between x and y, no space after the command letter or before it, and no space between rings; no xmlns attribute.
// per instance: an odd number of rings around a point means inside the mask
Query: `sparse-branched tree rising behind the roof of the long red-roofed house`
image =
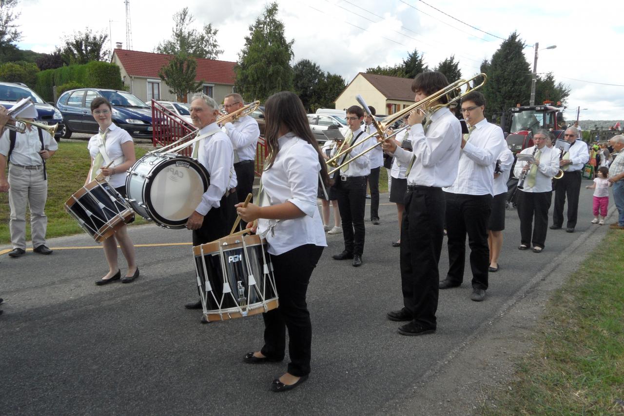
<svg viewBox="0 0 624 416"><path fill-rule="evenodd" d="M173 29L171 39L160 42L154 48L155 52L169 55L187 55L205 59L217 59L223 53L217 42L218 29L212 24L203 26L202 31L190 29L195 17L188 12L188 7L173 14Z"/></svg>

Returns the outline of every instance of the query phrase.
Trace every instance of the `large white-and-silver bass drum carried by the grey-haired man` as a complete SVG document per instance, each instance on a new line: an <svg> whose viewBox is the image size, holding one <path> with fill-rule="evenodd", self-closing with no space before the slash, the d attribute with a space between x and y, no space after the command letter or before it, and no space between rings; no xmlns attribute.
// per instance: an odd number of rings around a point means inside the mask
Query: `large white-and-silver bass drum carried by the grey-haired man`
<svg viewBox="0 0 624 416"><path fill-rule="evenodd" d="M195 159L146 154L128 171L127 201L145 219L165 228L184 228L208 190L210 175Z"/></svg>

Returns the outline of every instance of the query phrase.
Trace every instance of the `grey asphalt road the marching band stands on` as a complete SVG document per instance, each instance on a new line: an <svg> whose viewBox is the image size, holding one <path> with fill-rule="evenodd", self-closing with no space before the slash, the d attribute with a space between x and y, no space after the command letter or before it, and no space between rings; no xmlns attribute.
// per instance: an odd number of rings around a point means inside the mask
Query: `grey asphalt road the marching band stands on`
<svg viewBox="0 0 624 416"><path fill-rule="evenodd" d="M590 184L583 181L583 186ZM261 317L202 325L190 245L137 248L141 277L96 286L105 273L100 249L49 256L0 256L2 414L377 414L409 399L427 370L484 330L520 289L590 227L592 191L581 191L577 231L548 230L541 254L520 251L519 220L507 211L500 270L484 302L467 282L440 294L436 334L404 337L388 310L402 306L396 208L381 198L381 225L366 224L364 265L331 259L328 247L308 290L313 322L310 380L286 394L268 390L285 363L249 365L262 344ZM613 207L610 207L613 209ZM368 219L368 208L366 218ZM552 218L552 217L551 217ZM190 241L187 230L134 227L135 244ZM55 247L95 245L87 235L49 240ZM0 247L0 250L6 247ZM441 274L447 270L444 245ZM122 272L125 269L122 266ZM288 355L287 355L288 357ZM453 365L449 362L444 365ZM413 413L418 413L415 405ZM409 410L407 413L410 413Z"/></svg>

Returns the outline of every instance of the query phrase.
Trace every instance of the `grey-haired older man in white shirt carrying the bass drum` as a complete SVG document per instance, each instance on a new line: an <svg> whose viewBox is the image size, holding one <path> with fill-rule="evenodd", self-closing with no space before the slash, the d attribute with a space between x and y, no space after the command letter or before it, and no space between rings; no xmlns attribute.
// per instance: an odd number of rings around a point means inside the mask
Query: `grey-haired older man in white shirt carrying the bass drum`
<svg viewBox="0 0 624 416"><path fill-rule="evenodd" d="M218 105L212 97L195 94L190 113L198 135L193 157L210 174L210 185L195 212L188 217L187 229L193 230L193 245L201 245L228 235L236 220L236 172L230 138L217 126ZM202 309L202 302L186 304L187 309ZM203 321L202 321L203 322Z"/></svg>

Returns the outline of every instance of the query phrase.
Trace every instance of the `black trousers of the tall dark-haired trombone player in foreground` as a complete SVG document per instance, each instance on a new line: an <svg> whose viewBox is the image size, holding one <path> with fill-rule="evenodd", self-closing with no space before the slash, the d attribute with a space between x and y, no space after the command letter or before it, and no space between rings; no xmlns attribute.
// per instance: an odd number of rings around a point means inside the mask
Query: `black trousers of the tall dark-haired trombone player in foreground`
<svg viewBox="0 0 624 416"><path fill-rule="evenodd" d="M401 222L403 305L415 323L436 327L437 264L442 252L444 196L441 188L419 186L405 194Z"/></svg>

